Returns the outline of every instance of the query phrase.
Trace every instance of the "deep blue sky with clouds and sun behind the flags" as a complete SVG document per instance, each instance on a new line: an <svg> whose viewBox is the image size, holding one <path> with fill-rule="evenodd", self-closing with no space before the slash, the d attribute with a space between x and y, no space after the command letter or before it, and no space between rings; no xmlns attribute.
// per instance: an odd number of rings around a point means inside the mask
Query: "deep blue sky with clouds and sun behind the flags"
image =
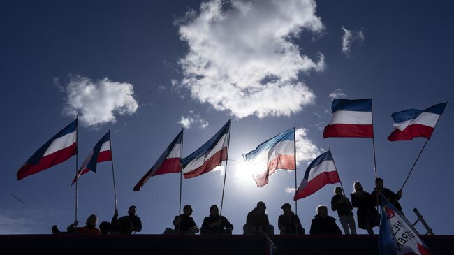
<svg viewBox="0 0 454 255"><path fill-rule="evenodd" d="M332 93L373 99L377 171L397 191L425 139L386 140L390 115L454 100L452 8L449 1L3 1L0 231L50 233L74 220L75 157L19 182L15 174L75 112L79 165L112 132L119 213L137 205L142 233L162 233L178 212L180 175L152 177L139 192L133 186L182 124L190 124L187 156L232 119L223 214L233 233L242 233L257 201L274 226L282 204L295 209L286 192L294 173L275 173L257 188L241 156L293 126L298 184L307 164L331 148L346 191L356 180L372 191L372 140L322 138ZM452 116L448 105L401 200L410 221L417 207L437 234L454 226ZM199 226L210 205L220 205L223 181L222 171L183 180L182 205L193 205ZM334 187L298 201L307 230ZM100 163L80 179L79 221L91 213L110 221L113 209L111 166Z"/></svg>

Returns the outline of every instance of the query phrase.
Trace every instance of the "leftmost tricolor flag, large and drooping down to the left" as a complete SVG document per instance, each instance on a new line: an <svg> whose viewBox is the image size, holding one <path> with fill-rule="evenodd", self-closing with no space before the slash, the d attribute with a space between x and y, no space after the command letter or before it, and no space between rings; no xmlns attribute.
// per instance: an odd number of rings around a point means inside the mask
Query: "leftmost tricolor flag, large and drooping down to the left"
<svg viewBox="0 0 454 255"><path fill-rule="evenodd" d="M78 120L71 122L47 141L17 171L17 180L66 161L78 154Z"/></svg>

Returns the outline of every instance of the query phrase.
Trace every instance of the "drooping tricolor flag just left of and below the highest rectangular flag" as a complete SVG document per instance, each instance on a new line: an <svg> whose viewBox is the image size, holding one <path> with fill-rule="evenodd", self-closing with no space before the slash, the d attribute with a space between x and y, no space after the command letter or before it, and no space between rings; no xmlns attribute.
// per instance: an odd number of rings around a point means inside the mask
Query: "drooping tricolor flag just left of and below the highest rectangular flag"
<svg viewBox="0 0 454 255"><path fill-rule="evenodd" d="M296 190L294 201L314 194L326 184L340 182L334 159L331 151L317 156L307 167L305 177L302 179L300 187Z"/></svg>

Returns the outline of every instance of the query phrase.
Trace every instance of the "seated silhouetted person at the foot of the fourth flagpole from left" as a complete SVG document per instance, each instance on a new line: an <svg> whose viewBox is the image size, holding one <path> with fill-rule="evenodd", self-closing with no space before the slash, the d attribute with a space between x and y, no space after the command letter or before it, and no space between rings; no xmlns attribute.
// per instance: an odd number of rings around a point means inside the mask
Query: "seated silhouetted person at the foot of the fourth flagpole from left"
<svg viewBox="0 0 454 255"><path fill-rule="evenodd" d="M200 234L228 234L231 235L233 231L233 225L228 222L227 218L219 215L219 209L217 205L210 207L210 216L203 219L202 227L200 228Z"/></svg>

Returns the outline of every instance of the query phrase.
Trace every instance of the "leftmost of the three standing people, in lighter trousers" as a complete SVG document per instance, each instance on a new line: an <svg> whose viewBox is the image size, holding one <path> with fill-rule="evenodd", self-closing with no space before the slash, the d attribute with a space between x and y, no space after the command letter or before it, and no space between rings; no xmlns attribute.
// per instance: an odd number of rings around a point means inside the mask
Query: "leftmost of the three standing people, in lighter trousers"
<svg viewBox="0 0 454 255"><path fill-rule="evenodd" d="M331 210L337 211L337 215L341 221L342 228L346 235L356 235L355 219L353 219L353 206L349 198L342 194L341 187L337 186L334 189L335 195L331 198Z"/></svg>

